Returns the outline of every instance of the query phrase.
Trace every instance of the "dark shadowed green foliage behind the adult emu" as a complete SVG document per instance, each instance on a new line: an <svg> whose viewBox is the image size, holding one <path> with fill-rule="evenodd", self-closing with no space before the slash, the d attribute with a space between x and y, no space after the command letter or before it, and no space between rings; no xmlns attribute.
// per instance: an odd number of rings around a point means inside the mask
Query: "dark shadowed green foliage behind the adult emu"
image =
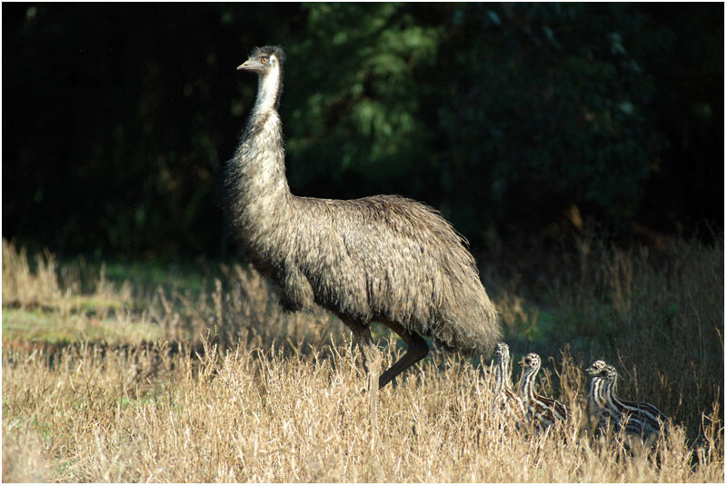
<svg viewBox="0 0 727 486"><path fill-rule="evenodd" d="M401 193L475 253L594 221L723 221L723 5L3 5L3 236L58 253L227 250L220 203L284 45L294 193Z"/></svg>

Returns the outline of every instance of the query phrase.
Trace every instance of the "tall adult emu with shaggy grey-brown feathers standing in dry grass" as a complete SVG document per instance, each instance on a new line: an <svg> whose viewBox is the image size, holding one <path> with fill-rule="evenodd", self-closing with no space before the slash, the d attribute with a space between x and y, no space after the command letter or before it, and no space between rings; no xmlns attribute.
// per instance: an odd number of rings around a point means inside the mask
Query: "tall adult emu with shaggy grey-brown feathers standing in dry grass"
<svg viewBox="0 0 727 486"><path fill-rule="evenodd" d="M432 208L395 195L344 201L290 192L277 113L283 62L283 49L264 46L237 67L259 81L224 180L233 233L250 261L278 284L286 310L318 304L341 318L373 380L380 356L370 323L399 334L407 352L379 377L379 388L426 356L422 335L463 352L492 352L500 338L495 307L463 237Z"/></svg>

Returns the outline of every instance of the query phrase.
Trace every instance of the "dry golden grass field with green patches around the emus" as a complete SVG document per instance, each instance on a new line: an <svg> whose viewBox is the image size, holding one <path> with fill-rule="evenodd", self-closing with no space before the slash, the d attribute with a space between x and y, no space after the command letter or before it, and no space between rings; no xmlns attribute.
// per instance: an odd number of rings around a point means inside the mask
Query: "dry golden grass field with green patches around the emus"
<svg viewBox="0 0 727 486"><path fill-rule="evenodd" d="M344 325L281 312L243 266L4 242L3 481L724 481L722 246L580 243L483 265L515 360L540 352L540 389L573 411L537 435L493 412L489 357L435 351L372 400ZM384 365L403 352L374 337ZM597 358L672 418L651 449L583 426Z"/></svg>

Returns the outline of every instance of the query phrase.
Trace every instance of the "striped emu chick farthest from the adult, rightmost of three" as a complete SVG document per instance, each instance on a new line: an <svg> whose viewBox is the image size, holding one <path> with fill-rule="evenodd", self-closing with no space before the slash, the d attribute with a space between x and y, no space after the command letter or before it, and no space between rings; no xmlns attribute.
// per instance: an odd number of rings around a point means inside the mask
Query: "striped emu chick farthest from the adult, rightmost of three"
<svg viewBox="0 0 727 486"><path fill-rule="evenodd" d="M616 397L618 372L603 361L596 361L585 370L593 378L588 393L588 404L598 418L598 424L607 429L609 423L616 431L642 438L658 433L665 428L668 418L659 409L647 402L628 402Z"/></svg>

